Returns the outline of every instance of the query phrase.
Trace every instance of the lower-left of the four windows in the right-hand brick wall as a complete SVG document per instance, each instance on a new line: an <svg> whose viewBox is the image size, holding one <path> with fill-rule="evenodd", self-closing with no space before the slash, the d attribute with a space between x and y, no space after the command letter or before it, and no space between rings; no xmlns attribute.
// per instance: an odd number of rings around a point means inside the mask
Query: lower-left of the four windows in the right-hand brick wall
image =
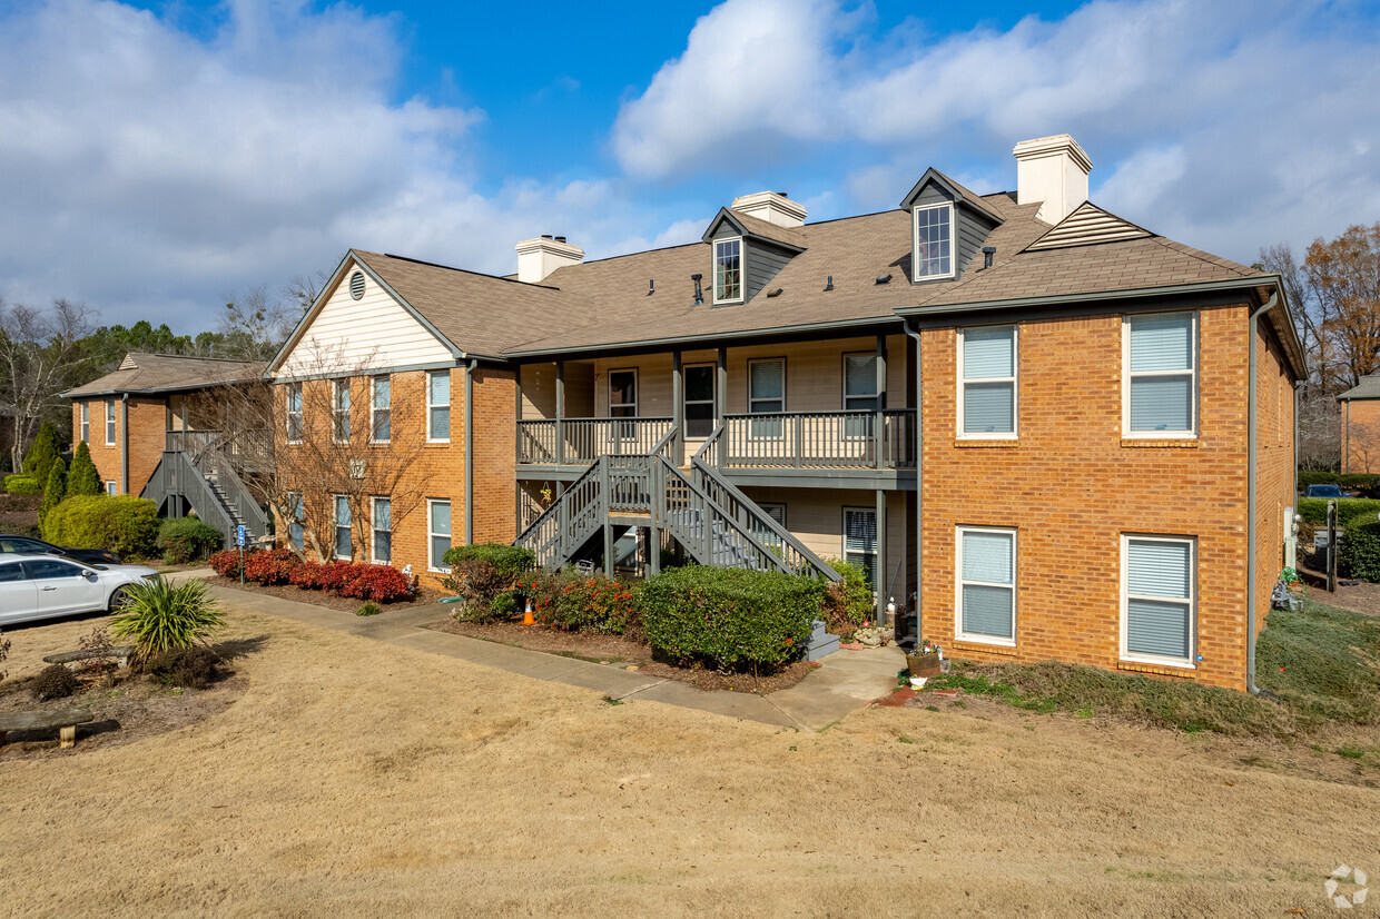
<svg viewBox="0 0 1380 919"><path fill-rule="evenodd" d="M958 527L954 635L1016 644L1016 530Z"/></svg>

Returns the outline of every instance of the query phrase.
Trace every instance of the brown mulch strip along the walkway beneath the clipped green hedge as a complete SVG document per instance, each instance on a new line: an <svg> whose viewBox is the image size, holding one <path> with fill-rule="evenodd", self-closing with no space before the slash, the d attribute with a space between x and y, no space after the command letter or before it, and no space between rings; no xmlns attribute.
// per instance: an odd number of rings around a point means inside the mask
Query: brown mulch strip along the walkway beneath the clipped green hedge
<svg viewBox="0 0 1380 919"><path fill-rule="evenodd" d="M719 671L702 666L676 666L667 661L658 661L646 642L639 642L624 635L564 632L544 625L518 625L515 622L465 622L455 618L442 620L431 628L437 632L465 635L468 638L483 639L484 642L497 642L529 651L573 657L581 661L607 664L609 666L636 666L639 673L679 680L707 693L776 693L777 690L795 686L805 679L806 673L816 668L814 664L798 661L776 673L760 673L758 676L752 673L720 673Z"/></svg>

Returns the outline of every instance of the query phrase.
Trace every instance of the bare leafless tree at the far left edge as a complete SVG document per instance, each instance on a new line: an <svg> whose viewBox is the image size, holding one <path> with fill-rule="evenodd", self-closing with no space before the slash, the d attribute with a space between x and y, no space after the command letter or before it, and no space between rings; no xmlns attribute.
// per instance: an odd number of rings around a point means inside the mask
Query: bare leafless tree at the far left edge
<svg viewBox="0 0 1380 919"><path fill-rule="evenodd" d="M80 379L77 342L92 331L91 310L68 299L41 310L0 298L0 402L14 406L15 469L39 424L65 407L59 393Z"/></svg>

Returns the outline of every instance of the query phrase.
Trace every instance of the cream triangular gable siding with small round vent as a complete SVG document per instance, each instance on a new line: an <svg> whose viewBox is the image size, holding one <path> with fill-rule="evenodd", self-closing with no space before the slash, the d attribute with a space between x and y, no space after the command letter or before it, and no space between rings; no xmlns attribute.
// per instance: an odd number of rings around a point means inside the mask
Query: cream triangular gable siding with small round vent
<svg viewBox="0 0 1380 919"><path fill-rule="evenodd" d="M322 364L349 370L444 364L454 357L374 279L364 275L364 295L349 295L348 266L320 312L302 331L277 377L322 373Z"/></svg>

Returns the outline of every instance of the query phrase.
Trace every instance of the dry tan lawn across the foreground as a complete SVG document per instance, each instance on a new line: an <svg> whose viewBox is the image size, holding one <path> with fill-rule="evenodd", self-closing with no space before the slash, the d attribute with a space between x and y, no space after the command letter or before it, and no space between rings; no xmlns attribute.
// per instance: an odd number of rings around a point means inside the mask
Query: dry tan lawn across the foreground
<svg viewBox="0 0 1380 919"><path fill-rule="evenodd" d="M914 708L802 734L230 621L265 640L228 709L0 762L6 909L1330 915L1339 862L1380 878L1380 791L1183 734ZM92 624L10 632L11 676Z"/></svg>

